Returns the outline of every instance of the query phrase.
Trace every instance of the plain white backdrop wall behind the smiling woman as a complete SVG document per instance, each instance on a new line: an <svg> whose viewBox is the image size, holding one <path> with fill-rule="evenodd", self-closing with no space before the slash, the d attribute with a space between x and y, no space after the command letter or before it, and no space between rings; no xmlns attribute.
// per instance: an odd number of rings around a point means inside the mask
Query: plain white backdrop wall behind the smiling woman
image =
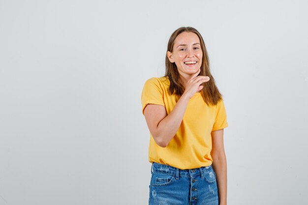
<svg viewBox="0 0 308 205"><path fill-rule="evenodd" d="M202 34L229 205L307 205L305 0L0 0L0 205L146 205L145 81Z"/></svg>

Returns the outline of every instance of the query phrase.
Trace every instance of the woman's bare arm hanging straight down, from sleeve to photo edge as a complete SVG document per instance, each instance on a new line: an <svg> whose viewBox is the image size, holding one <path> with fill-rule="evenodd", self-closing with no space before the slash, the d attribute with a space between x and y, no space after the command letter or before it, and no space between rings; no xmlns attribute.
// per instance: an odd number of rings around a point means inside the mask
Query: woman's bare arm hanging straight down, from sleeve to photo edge
<svg viewBox="0 0 308 205"><path fill-rule="evenodd" d="M227 205L227 160L223 146L223 129L213 131L211 135L212 166L216 173L219 205Z"/></svg>

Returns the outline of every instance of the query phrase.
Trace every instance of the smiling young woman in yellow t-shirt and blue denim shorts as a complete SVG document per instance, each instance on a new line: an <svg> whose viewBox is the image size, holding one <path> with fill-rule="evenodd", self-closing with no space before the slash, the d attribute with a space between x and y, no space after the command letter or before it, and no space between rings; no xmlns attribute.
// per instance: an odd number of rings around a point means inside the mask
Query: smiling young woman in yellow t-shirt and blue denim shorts
<svg viewBox="0 0 308 205"><path fill-rule="evenodd" d="M164 77L147 80L142 111L150 130L149 205L226 205L226 111L200 33L171 35Z"/></svg>

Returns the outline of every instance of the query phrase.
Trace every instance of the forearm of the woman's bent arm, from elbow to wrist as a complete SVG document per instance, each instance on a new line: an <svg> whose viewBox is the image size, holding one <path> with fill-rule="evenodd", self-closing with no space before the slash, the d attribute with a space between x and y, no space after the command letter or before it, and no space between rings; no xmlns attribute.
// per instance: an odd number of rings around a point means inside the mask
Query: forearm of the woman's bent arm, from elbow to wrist
<svg viewBox="0 0 308 205"><path fill-rule="evenodd" d="M158 123L157 140L162 146L167 146L170 140L177 133L182 123L188 101L189 97L182 95L169 115Z"/></svg>

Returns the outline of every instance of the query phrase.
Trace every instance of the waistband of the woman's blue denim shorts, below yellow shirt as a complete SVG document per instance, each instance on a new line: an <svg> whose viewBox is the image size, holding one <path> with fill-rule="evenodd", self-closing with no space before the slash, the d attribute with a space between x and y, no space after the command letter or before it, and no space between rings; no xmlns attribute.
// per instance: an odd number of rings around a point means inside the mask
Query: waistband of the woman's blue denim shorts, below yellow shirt
<svg viewBox="0 0 308 205"><path fill-rule="evenodd" d="M179 176L197 176L197 175L200 175L201 178L203 178L204 173L212 169L213 169L212 165L210 165L207 167L200 167L196 169L181 170L169 165L153 162L151 173L155 172L155 173L164 173L167 175L175 175L177 179L179 178Z"/></svg>

